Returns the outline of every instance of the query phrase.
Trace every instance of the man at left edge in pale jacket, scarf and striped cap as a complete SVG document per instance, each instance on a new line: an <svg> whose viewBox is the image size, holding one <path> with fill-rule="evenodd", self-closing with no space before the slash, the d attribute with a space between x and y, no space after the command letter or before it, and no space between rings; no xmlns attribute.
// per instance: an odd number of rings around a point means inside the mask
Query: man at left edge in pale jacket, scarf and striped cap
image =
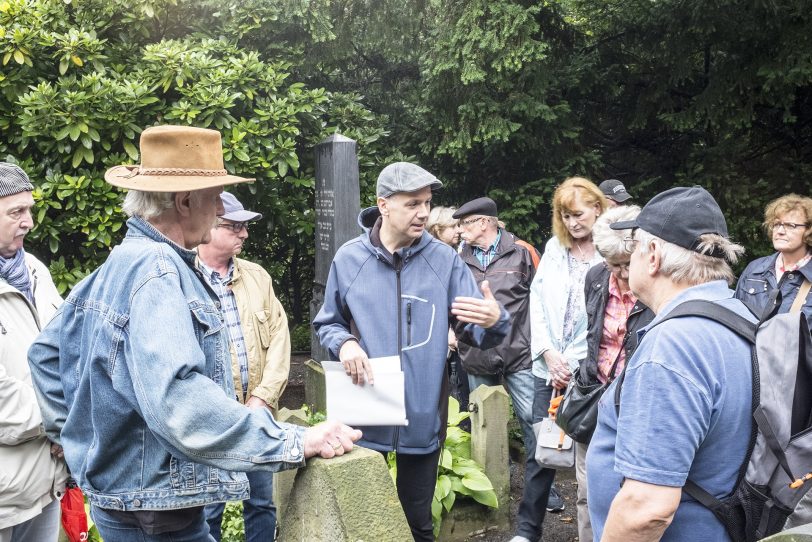
<svg viewBox="0 0 812 542"><path fill-rule="evenodd" d="M56 542L68 477L43 431L27 360L62 303L48 268L23 250L33 189L22 169L0 162L0 542Z"/></svg>

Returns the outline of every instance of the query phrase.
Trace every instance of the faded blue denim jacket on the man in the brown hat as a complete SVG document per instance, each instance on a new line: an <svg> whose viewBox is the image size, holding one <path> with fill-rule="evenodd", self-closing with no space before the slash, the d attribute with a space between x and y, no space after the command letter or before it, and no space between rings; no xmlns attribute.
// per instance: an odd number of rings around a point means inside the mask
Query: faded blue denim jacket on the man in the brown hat
<svg viewBox="0 0 812 542"><path fill-rule="evenodd" d="M303 429L233 397L228 335L195 253L140 218L29 351L43 424L91 504L248 498L245 474L304 464Z"/></svg>

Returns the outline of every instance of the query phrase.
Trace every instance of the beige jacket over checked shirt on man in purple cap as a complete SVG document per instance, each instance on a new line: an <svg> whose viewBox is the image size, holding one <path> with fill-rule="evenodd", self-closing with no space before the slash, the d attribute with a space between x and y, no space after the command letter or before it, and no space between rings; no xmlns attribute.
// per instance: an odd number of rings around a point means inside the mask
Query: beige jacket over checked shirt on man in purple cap
<svg viewBox="0 0 812 542"><path fill-rule="evenodd" d="M256 396L274 414L290 373L290 332L285 309L276 298L271 276L261 266L234 258L231 290L237 299L245 350L248 353L248 396ZM237 353L231 347L234 392L245 403Z"/></svg>

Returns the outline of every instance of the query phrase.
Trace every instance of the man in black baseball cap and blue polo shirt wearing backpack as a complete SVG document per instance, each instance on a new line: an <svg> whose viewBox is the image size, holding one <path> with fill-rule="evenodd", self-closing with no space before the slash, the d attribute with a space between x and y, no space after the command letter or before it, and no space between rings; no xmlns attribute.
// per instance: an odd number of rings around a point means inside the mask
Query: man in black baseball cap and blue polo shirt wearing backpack
<svg viewBox="0 0 812 542"><path fill-rule="evenodd" d="M689 475L717 497L736 484L751 431L750 345L707 318L666 318L706 300L755 321L728 288L743 249L698 186L658 194L610 227L628 231L629 285L656 316L598 407L586 459L595 540L730 540L682 488Z"/></svg>

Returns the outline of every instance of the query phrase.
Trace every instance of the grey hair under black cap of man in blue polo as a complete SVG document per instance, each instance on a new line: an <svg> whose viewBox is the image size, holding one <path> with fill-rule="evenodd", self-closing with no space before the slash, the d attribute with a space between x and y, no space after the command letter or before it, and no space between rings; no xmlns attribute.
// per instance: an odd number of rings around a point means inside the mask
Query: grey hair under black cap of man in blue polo
<svg viewBox="0 0 812 542"><path fill-rule="evenodd" d="M660 272L674 282L691 286L712 280L725 280L728 284L733 284L735 276L730 265L735 264L739 256L744 254L744 247L716 233L702 235L697 252L664 241L642 228L635 232L635 239L640 242L639 250L642 254L648 252L649 244L658 246ZM710 253L723 254L724 257L709 256Z"/></svg>

